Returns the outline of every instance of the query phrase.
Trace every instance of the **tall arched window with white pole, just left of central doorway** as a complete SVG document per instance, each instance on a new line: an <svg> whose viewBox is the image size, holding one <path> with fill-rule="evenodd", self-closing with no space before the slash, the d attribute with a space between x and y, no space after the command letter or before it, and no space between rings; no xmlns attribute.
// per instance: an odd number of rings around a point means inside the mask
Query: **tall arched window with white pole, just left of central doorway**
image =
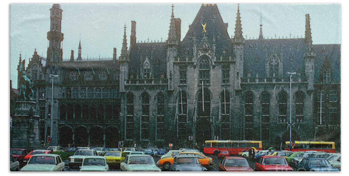
<svg viewBox="0 0 349 176"><path fill-rule="evenodd" d="M181 90L178 94L178 139L187 139L187 94Z"/></svg>

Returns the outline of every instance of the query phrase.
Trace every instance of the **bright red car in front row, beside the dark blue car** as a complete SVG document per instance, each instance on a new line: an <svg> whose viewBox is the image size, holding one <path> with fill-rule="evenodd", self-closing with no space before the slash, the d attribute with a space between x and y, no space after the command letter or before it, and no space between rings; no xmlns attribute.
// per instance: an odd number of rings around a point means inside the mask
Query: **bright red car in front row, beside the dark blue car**
<svg viewBox="0 0 349 176"><path fill-rule="evenodd" d="M254 166L255 171L293 171L286 159L281 156L262 156Z"/></svg>

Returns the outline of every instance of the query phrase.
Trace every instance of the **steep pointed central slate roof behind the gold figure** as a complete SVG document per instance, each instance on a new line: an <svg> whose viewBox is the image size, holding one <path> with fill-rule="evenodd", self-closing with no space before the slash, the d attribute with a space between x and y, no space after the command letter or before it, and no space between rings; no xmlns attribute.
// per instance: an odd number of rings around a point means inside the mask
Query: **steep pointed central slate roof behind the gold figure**
<svg viewBox="0 0 349 176"><path fill-rule="evenodd" d="M216 38L216 56L232 55L231 39L227 32L228 24L223 22L216 4L201 5L198 14L196 14L193 23L189 26L188 32L180 43L179 55L184 55L187 49L189 51L188 56L193 56L193 36L195 36L196 45L198 46L203 37L202 25L205 25L205 23L206 35L210 45L213 42L213 37ZM223 49L227 50L225 54L222 52Z"/></svg>

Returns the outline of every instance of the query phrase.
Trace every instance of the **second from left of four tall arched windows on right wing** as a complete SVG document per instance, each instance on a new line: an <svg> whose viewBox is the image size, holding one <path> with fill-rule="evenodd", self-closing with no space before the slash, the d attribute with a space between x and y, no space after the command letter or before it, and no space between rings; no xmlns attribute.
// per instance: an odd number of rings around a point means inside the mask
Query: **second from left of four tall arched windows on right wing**
<svg viewBox="0 0 349 176"><path fill-rule="evenodd" d="M269 140L269 102L270 96L267 91L261 93L262 117L261 117L261 140Z"/></svg>

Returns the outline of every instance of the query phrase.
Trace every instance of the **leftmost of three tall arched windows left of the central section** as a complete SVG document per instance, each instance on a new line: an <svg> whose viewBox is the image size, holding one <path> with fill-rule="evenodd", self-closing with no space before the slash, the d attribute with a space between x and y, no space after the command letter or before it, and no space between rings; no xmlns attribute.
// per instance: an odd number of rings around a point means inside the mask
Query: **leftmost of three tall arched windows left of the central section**
<svg viewBox="0 0 349 176"><path fill-rule="evenodd" d="M133 94L128 92L127 99L127 115L126 115L126 139L133 139Z"/></svg>

